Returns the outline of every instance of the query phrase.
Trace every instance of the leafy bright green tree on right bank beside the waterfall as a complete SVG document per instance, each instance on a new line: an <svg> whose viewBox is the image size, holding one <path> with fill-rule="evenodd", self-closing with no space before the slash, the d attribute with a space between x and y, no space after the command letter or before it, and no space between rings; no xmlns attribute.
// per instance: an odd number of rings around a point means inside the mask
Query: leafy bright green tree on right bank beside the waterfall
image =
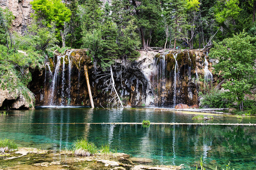
<svg viewBox="0 0 256 170"><path fill-rule="evenodd" d="M228 80L222 86L229 90L229 99L239 103L240 110L243 109L245 94L250 94L250 90L256 87L255 40L241 32L214 43L209 54L210 57L219 59L219 63L214 65L215 71Z"/></svg>

